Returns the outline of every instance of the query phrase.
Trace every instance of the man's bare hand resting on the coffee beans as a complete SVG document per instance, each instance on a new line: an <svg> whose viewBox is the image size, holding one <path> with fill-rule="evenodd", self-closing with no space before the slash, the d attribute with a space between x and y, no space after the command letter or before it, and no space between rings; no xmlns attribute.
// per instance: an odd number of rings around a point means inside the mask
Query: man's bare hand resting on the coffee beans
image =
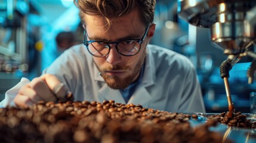
<svg viewBox="0 0 256 143"><path fill-rule="evenodd" d="M52 74L36 77L30 83L21 87L14 98L14 103L20 107L27 107L41 100L46 102L56 101L56 96L64 98L67 89L59 85L63 85L63 83Z"/></svg>

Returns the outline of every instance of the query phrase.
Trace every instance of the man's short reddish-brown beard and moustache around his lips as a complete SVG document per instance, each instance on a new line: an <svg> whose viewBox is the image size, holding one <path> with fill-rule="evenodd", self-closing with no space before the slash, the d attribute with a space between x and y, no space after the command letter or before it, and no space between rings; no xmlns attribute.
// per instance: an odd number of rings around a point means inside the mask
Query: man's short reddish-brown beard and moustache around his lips
<svg viewBox="0 0 256 143"><path fill-rule="evenodd" d="M129 66L122 67L121 64L116 66L109 65L108 67L104 67L100 69L100 67L95 62L94 63L97 69L101 72L101 76L103 77L103 79L105 80L105 82L110 88L125 89L134 81L135 76L137 76L137 74L140 73L141 71L141 67L143 66L144 61L146 59L146 48L144 48L142 52L143 53L141 55L141 58L138 61L138 63L135 65L133 70ZM128 71L132 71L132 73L125 77L109 76L104 73L104 71L106 70L128 70Z"/></svg>

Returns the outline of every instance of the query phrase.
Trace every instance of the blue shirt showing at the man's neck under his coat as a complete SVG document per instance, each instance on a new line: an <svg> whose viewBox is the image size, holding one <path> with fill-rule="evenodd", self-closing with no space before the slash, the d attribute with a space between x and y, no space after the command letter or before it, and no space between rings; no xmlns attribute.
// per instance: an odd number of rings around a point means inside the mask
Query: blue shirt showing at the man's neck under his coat
<svg viewBox="0 0 256 143"><path fill-rule="evenodd" d="M138 80L136 80L134 83L131 83L131 85L129 85L127 88L120 89L120 92L121 92L125 102L129 101L129 98L131 98L131 95L134 93L137 85L140 84L142 77L143 77L143 73L144 73L143 71L144 71L144 64L141 68L140 76L138 77Z"/></svg>

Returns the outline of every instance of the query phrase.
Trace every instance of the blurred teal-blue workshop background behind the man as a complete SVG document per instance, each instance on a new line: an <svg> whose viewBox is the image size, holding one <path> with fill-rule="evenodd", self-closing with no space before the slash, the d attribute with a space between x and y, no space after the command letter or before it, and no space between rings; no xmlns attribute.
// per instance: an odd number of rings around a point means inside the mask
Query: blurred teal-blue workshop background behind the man
<svg viewBox="0 0 256 143"><path fill-rule="evenodd" d="M195 27L177 15L177 1L157 0L156 32L151 43L185 55L196 66L208 113L227 111L227 98L219 66L226 60L215 48L209 29ZM78 10L72 0L0 0L0 101L21 77L40 76L61 52L83 41ZM249 113L244 58L230 70L230 90L236 111Z"/></svg>

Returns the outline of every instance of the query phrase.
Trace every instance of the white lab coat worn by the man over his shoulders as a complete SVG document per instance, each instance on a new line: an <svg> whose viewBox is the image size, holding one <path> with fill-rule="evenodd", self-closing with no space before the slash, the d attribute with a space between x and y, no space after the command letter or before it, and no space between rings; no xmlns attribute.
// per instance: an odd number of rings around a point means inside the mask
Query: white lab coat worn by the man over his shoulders
<svg viewBox="0 0 256 143"><path fill-rule="evenodd" d="M109 88L98 74L92 55L84 45L67 49L44 73L55 74L67 85L76 101L125 103L121 92ZM147 45L143 79L129 103L170 112L205 113L193 64L183 55L155 45Z"/></svg>

